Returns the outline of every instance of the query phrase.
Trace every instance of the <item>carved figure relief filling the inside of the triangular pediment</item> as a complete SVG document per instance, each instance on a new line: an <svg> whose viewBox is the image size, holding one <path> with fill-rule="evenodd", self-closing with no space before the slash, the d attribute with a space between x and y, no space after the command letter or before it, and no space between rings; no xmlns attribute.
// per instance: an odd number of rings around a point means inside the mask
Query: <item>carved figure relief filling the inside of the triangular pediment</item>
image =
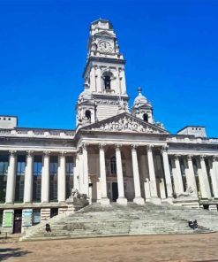
<svg viewBox="0 0 218 262"><path fill-rule="evenodd" d="M125 132L136 132L136 133L154 133L160 134L161 132L153 127L148 127L141 124L137 119L133 119L124 116L122 119L115 119L101 123L100 127L92 127L91 130L102 130L102 131L125 131Z"/></svg>

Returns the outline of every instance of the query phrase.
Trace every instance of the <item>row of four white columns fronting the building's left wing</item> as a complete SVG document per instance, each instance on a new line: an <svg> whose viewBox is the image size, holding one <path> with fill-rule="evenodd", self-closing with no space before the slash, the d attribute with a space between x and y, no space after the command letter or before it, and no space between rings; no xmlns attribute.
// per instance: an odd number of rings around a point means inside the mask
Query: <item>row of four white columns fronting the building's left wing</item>
<svg viewBox="0 0 218 262"><path fill-rule="evenodd" d="M41 169L41 203L49 203L49 151L43 153L42 169ZM6 204L14 203L15 182L16 182L16 151L10 151L9 167L6 184ZM65 152L59 153L59 165L57 169L57 199L58 202L65 201L66 188L66 160ZM26 170L24 183L24 203L33 201L33 180L34 180L34 151L27 151Z"/></svg>

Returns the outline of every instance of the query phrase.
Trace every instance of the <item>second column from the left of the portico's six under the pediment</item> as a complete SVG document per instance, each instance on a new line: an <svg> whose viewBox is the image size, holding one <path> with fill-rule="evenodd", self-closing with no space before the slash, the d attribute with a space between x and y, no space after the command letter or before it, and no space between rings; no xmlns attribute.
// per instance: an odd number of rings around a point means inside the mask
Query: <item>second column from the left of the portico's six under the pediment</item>
<svg viewBox="0 0 218 262"><path fill-rule="evenodd" d="M109 204L107 196L107 181L106 181L106 168L105 168L105 153L104 144L99 145L99 159L100 159L100 179L101 179L101 204Z"/></svg>

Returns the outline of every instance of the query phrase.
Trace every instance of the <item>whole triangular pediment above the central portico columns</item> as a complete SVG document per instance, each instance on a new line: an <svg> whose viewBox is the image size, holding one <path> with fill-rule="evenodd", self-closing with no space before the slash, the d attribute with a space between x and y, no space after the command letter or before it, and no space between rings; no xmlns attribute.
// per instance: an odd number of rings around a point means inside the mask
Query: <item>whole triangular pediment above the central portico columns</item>
<svg viewBox="0 0 218 262"><path fill-rule="evenodd" d="M130 113L123 112L109 119L103 119L97 123L82 127L82 130L102 132L124 132L124 133L145 133L145 134L169 134L168 131L147 123Z"/></svg>

